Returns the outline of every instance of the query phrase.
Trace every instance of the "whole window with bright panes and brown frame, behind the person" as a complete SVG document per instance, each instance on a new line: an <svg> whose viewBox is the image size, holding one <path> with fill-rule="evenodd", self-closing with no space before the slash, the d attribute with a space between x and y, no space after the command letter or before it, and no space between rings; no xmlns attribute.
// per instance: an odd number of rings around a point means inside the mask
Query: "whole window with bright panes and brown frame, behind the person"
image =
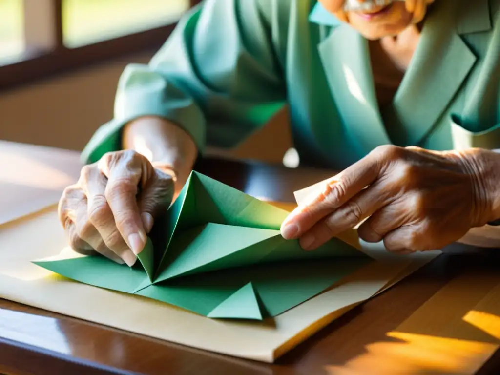
<svg viewBox="0 0 500 375"><path fill-rule="evenodd" d="M0 90L159 48L200 0L0 0Z"/></svg>

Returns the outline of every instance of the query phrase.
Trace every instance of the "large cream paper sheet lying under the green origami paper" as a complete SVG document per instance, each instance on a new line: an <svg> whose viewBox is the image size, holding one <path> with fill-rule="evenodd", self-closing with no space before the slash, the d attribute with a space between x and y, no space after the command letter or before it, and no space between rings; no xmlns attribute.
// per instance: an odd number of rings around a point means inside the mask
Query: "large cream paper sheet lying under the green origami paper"
<svg viewBox="0 0 500 375"><path fill-rule="evenodd" d="M389 287L438 253L413 257L363 249L374 262L330 290L262 324L221 321L156 302L78 283L30 260L66 246L56 207L0 225L0 297L187 346L272 362L348 309ZM125 308L126 306L126 308ZM146 316L144 318L144 316Z"/></svg>

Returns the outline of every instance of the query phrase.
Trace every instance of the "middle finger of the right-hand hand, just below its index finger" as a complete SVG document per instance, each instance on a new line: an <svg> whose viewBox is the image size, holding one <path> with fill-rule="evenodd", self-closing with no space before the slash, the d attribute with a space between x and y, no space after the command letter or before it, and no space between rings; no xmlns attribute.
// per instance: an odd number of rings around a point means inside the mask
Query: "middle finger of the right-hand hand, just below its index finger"
<svg viewBox="0 0 500 375"><path fill-rule="evenodd" d="M391 200L390 189L383 182L376 182L359 192L330 215L316 223L300 237L300 246L312 250L338 233L356 226Z"/></svg>

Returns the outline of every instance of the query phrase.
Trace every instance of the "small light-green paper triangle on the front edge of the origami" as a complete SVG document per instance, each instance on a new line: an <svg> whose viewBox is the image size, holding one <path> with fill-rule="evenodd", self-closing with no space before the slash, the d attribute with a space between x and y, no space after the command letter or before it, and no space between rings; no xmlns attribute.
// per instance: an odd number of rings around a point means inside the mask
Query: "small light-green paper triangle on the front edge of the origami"
<svg viewBox="0 0 500 375"><path fill-rule="evenodd" d="M236 290L210 311L211 318L262 320L257 295L251 282Z"/></svg>

